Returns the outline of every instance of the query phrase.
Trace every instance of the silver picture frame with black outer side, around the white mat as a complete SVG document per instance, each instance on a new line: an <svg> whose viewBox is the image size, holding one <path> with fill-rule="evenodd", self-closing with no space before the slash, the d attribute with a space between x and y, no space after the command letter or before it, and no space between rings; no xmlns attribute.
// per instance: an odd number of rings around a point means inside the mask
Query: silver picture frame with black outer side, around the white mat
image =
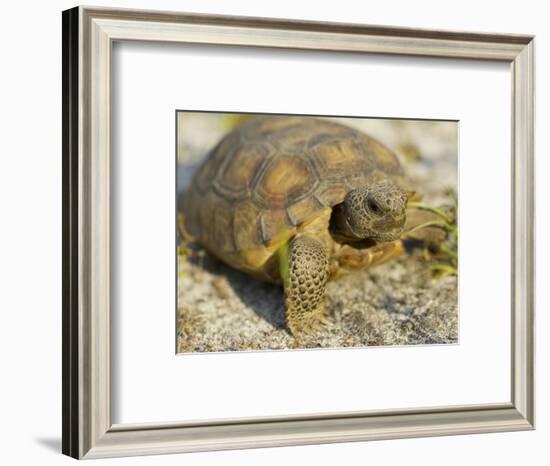
<svg viewBox="0 0 550 466"><path fill-rule="evenodd" d="M275 47L508 63L512 99L511 399L342 414L111 421L110 141L115 42ZM534 428L534 37L76 7L63 12L63 453L74 458Z"/></svg>

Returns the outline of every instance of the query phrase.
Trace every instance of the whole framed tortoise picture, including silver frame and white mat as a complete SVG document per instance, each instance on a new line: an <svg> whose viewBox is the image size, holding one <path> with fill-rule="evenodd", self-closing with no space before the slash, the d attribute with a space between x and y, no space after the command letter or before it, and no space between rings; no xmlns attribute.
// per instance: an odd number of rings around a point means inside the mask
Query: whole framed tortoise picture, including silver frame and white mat
<svg viewBox="0 0 550 466"><path fill-rule="evenodd" d="M534 38L63 12L63 452L534 428Z"/></svg>

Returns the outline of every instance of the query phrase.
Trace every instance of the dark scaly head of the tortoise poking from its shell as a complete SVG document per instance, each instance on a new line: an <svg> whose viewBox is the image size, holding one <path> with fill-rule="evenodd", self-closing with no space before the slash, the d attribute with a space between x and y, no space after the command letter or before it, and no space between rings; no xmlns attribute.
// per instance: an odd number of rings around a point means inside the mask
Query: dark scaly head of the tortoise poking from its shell
<svg viewBox="0 0 550 466"><path fill-rule="evenodd" d="M333 235L345 242L394 241L405 226L408 195L391 181L353 189L331 218Z"/></svg>

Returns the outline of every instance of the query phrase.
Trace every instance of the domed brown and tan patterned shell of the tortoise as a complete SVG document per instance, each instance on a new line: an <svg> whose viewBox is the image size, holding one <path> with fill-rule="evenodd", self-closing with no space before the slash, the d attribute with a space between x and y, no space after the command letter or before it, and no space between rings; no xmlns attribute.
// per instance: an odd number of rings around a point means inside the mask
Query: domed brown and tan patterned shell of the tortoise
<svg viewBox="0 0 550 466"><path fill-rule="evenodd" d="M273 252L352 189L391 178L397 157L353 128L312 117L262 116L227 134L183 198L189 232L233 267L262 269Z"/></svg>

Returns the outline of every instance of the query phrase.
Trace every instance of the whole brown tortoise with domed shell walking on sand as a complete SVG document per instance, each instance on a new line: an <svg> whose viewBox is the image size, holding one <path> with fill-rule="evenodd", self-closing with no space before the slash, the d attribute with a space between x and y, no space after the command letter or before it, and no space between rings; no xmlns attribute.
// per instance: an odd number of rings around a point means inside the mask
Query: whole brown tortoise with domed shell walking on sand
<svg viewBox="0 0 550 466"><path fill-rule="evenodd" d="M376 139L313 117L260 116L227 134L184 193L185 228L226 264L285 291L298 337L328 323L330 279L385 262L414 195Z"/></svg>

